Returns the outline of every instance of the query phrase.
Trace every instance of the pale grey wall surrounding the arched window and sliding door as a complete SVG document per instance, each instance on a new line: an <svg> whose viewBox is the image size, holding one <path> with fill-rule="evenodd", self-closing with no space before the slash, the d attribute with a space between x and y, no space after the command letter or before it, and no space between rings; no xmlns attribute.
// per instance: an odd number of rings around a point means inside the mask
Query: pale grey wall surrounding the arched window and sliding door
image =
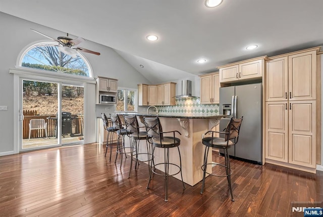
<svg viewBox="0 0 323 217"><path fill-rule="evenodd" d="M15 68L17 58L22 49L27 45L45 40L43 36L31 31L35 29L48 36L56 38L58 36L65 36L66 33L54 29L50 29L20 18L16 18L0 12L0 105L8 106L8 111L0 111L0 156L11 153L14 150L14 76L9 74L10 68ZM100 34L98 32L97 34ZM71 38L74 36L70 35ZM75 36L76 37L76 36ZM82 36L81 36L82 37ZM137 84L148 83L137 70L128 64L119 54L112 48L102 46L100 44L85 41L82 42L81 47L88 48L100 52L100 56L83 53L90 62L94 76L103 76L118 79L118 84L121 87L137 88ZM95 97L93 88L89 88L87 96ZM91 93L93 92L93 93ZM89 114L84 114L88 118L88 130L95 134L96 113L105 110L102 106L95 106L95 112L90 111ZM91 136L86 140L87 142L94 142L96 135Z"/></svg>

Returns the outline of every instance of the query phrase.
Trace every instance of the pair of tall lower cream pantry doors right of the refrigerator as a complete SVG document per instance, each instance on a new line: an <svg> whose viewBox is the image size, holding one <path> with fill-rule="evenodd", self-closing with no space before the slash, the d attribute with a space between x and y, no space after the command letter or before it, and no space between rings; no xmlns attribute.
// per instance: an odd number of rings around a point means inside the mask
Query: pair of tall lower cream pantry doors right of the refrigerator
<svg viewBox="0 0 323 217"><path fill-rule="evenodd" d="M273 160L267 162L315 171L315 100L266 102L265 107L265 157Z"/></svg>

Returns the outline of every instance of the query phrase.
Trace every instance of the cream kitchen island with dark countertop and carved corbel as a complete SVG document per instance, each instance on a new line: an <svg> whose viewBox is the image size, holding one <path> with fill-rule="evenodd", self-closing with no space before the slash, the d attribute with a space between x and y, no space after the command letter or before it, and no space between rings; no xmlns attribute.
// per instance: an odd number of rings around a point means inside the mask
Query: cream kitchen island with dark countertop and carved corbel
<svg viewBox="0 0 323 217"><path fill-rule="evenodd" d="M201 166L203 164L203 155L204 155L204 146L202 144L202 136L208 130L215 130L220 119L226 117L226 115L169 115L169 114L136 114L138 116L138 120L143 122L142 117L153 117L158 116L160 120L160 124L163 127L163 131L173 131L178 130L182 135L176 133L175 136L181 139L181 144L179 146L181 157L182 157L182 173L183 180L185 183L193 186L203 178L203 173L201 170ZM165 134L165 136L172 136L171 133ZM126 146L129 139L125 139ZM139 148L139 152L145 152L145 140L141 140L141 146ZM143 150L141 150L143 149ZM170 159L172 163L179 165L179 156L177 149L170 149ZM211 150L209 155L211 155ZM164 150L163 149L155 149L154 153L154 161L163 162L164 161ZM211 163L211 158L208 158ZM161 168L158 168L162 170ZM170 167L170 173L177 171L176 168ZM211 171L211 167L208 168L208 172ZM180 174L177 174L175 178L181 180Z"/></svg>

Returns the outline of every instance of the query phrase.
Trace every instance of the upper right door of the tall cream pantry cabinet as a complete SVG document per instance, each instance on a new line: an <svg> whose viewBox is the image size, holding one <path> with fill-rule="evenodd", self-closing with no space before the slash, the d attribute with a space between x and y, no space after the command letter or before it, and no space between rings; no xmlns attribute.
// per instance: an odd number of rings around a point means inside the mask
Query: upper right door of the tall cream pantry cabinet
<svg viewBox="0 0 323 217"><path fill-rule="evenodd" d="M316 99L316 51L290 55L289 62L289 99Z"/></svg>

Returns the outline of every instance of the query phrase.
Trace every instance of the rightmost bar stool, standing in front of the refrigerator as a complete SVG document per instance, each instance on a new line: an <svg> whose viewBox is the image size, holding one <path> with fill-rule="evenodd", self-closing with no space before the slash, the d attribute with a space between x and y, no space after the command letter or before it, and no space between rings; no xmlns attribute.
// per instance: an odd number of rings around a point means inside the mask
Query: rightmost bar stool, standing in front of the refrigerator
<svg viewBox="0 0 323 217"><path fill-rule="evenodd" d="M228 184L229 184L229 190L230 190L230 194L231 194L231 200L234 201L232 187L231 187L232 170L230 168L230 158L229 158L229 154L228 154L228 149L235 146L238 142L242 119L243 119L243 116L238 119L231 118L230 122L228 123L224 132L210 130L205 133L205 135L206 135L207 133L211 132L212 136L211 137L204 137L202 139L202 143L205 146L205 151L204 151L204 162L201 167L201 169L203 170L203 183L202 183L202 188L201 188L201 192L200 192L201 194L203 193L203 189L204 189L204 185L205 185L206 173L209 175L212 175L212 176L227 177ZM214 133L224 134L225 137L224 138L214 137L213 136ZM216 148L216 149L224 151L225 165L219 164L219 163L207 163L207 156L208 156L208 151L210 148ZM226 169L226 175L212 174L212 173L206 172L207 165L218 165L218 166L224 167Z"/></svg>

